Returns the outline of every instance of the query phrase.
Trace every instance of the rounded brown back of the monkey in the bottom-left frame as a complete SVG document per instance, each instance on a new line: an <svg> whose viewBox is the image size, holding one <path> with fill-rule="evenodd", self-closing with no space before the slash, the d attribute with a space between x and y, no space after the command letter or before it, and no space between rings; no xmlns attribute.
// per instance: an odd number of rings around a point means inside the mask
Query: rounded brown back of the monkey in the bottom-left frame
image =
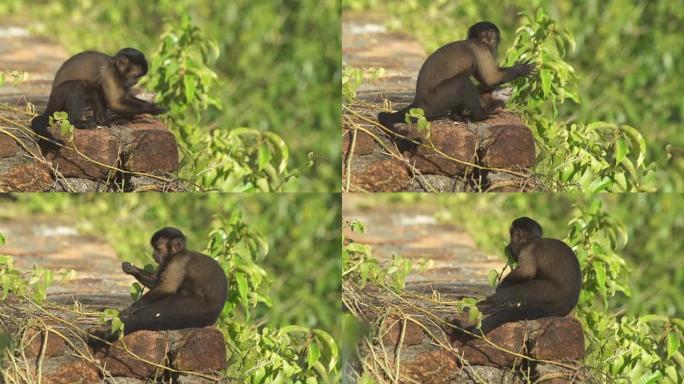
<svg viewBox="0 0 684 384"><path fill-rule="evenodd" d="M228 279L219 263L199 252L188 252L186 281L179 290L191 290L208 307L220 312L228 294Z"/></svg>

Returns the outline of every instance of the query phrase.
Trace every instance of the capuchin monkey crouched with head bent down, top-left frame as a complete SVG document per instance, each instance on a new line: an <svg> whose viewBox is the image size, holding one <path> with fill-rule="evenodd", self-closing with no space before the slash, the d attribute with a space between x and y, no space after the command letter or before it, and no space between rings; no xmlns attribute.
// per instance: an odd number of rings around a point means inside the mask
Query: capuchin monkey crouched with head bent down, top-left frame
<svg viewBox="0 0 684 384"><path fill-rule="evenodd" d="M94 51L81 52L57 70L45 111L31 121L31 128L54 139L48 131L48 122L58 111L66 111L69 123L76 128L104 125L107 107L125 116L164 113L164 107L138 99L132 93L132 87L146 73L145 55L134 48L124 48L114 57ZM86 106L93 109L94 123L83 118Z"/></svg>

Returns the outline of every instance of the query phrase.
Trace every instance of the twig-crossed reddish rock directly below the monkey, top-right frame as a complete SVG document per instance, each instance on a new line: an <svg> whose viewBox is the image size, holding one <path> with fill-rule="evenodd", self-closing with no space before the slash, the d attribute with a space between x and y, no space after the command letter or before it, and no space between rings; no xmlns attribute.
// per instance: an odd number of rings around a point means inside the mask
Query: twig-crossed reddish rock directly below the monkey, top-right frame
<svg viewBox="0 0 684 384"><path fill-rule="evenodd" d="M433 121L430 137L435 148L445 155L469 163L476 162L477 137L465 125L448 120ZM426 146L418 147L411 156L411 162L421 173L433 175L457 176L467 167Z"/></svg>

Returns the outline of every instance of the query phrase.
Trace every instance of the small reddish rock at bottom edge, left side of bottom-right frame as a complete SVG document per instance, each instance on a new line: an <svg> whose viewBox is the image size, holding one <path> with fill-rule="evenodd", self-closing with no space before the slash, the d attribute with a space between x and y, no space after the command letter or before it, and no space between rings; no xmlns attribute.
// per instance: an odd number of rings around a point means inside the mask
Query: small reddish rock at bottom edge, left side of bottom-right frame
<svg viewBox="0 0 684 384"><path fill-rule="evenodd" d="M438 348L417 353L407 351L402 357L401 374L419 383L449 383L449 377L459 370L453 352Z"/></svg>

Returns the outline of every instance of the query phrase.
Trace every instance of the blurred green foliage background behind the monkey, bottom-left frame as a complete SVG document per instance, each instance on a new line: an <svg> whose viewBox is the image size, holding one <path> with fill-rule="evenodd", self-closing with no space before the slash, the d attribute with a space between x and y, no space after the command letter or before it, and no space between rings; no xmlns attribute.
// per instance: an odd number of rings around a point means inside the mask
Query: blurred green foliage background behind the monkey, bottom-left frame
<svg viewBox="0 0 684 384"><path fill-rule="evenodd" d="M84 233L103 236L121 260L153 263L149 238L164 226L180 228L190 248L203 250L210 231L235 211L261 233L268 255L260 265L272 277L272 307L257 323L297 324L337 335L340 300L340 203L335 194L21 194L0 203L3 216L69 218Z"/></svg>

